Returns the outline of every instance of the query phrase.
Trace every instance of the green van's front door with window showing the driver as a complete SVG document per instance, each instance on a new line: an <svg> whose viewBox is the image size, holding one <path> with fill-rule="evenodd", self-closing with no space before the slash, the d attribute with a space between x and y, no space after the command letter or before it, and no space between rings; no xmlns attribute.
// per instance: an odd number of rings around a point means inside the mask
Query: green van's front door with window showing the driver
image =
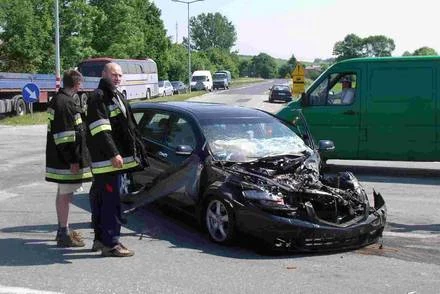
<svg viewBox="0 0 440 294"><path fill-rule="evenodd" d="M332 140L335 152L327 158L357 158L361 109L361 71L332 72L311 89L303 113L318 140Z"/></svg>

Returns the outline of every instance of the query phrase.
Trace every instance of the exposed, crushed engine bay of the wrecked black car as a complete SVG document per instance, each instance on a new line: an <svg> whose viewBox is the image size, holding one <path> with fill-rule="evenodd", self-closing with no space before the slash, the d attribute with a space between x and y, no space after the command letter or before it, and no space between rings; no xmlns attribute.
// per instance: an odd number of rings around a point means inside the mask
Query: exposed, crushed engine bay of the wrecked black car
<svg viewBox="0 0 440 294"><path fill-rule="evenodd" d="M277 156L236 163L228 170L284 204L265 202L265 209L290 211L291 215L343 225L363 219L370 210L367 195L351 172L321 175L315 155ZM292 214L292 212L295 212Z"/></svg>

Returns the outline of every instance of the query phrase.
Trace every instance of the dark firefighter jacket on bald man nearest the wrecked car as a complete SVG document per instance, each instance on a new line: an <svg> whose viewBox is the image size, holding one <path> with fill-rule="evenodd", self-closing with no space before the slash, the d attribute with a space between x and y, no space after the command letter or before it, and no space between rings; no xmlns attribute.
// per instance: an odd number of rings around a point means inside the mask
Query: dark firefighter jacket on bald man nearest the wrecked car
<svg viewBox="0 0 440 294"><path fill-rule="evenodd" d="M130 105L107 79L101 79L98 89L90 95L86 120L93 174L126 173L146 166ZM111 163L118 154L124 160L122 168L114 168Z"/></svg>

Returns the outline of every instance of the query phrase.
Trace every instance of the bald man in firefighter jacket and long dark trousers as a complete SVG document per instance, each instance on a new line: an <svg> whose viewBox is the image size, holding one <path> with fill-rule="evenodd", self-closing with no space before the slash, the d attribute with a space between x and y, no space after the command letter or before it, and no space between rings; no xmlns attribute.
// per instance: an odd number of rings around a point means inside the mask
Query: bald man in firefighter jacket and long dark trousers
<svg viewBox="0 0 440 294"><path fill-rule="evenodd" d="M93 251L102 256L127 257L134 252L119 242L121 231L121 174L139 168L135 160L136 122L130 105L118 91L121 67L107 63L98 89L88 99L87 145L92 158L93 184L90 189Z"/></svg>

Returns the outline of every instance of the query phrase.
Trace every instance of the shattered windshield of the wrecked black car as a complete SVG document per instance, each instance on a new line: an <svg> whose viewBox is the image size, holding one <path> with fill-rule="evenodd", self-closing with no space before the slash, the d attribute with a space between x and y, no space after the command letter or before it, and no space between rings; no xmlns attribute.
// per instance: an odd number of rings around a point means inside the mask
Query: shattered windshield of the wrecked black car
<svg viewBox="0 0 440 294"><path fill-rule="evenodd" d="M311 152L292 129L272 117L205 119L201 126L216 160L248 162Z"/></svg>

